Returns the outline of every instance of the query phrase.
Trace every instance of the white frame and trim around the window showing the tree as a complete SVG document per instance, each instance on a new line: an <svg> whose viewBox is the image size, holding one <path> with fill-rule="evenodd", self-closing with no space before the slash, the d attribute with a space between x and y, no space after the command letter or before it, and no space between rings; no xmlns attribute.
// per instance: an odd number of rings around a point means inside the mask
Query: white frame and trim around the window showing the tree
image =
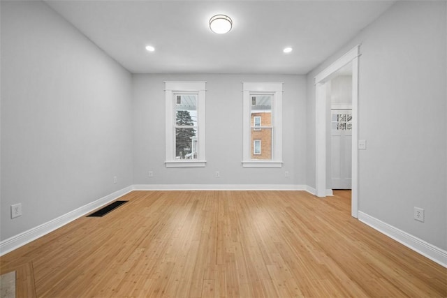
<svg viewBox="0 0 447 298"><path fill-rule="evenodd" d="M205 167L205 81L165 81L166 167ZM198 155L193 160L175 159L175 103L178 94L197 94Z"/></svg>

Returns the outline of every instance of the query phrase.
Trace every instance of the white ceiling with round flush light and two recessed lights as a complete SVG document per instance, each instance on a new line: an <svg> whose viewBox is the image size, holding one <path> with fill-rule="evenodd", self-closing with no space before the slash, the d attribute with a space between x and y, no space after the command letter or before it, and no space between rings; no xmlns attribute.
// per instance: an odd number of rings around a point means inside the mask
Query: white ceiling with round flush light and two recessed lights
<svg viewBox="0 0 447 298"><path fill-rule="evenodd" d="M305 74L394 1L46 3L131 73ZM216 14L233 19L229 33L210 31Z"/></svg>

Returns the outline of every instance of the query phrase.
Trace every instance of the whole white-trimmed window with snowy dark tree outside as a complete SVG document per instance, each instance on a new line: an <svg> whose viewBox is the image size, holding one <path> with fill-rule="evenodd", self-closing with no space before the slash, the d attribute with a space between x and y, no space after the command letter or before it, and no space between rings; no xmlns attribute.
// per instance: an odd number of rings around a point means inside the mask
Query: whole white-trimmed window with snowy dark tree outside
<svg viewBox="0 0 447 298"><path fill-rule="evenodd" d="M166 84L166 167L205 166L205 82Z"/></svg>

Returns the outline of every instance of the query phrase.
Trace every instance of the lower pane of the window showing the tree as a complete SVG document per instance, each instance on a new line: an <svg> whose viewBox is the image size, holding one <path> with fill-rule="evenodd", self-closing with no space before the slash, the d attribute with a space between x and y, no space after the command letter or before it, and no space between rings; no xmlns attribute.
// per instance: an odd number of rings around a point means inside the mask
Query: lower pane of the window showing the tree
<svg viewBox="0 0 447 298"><path fill-rule="evenodd" d="M176 159L197 159L197 136L196 128L175 128Z"/></svg>

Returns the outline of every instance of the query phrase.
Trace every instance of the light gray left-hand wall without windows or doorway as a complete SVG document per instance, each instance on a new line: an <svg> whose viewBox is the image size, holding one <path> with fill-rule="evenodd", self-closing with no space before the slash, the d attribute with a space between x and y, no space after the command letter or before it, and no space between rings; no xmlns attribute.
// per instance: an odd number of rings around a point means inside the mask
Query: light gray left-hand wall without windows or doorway
<svg viewBox="0 0 447 298"><path fill-rule="evenodd" d="M132 184L131 87L45 3L1 1L2 240Z"/></svg>

